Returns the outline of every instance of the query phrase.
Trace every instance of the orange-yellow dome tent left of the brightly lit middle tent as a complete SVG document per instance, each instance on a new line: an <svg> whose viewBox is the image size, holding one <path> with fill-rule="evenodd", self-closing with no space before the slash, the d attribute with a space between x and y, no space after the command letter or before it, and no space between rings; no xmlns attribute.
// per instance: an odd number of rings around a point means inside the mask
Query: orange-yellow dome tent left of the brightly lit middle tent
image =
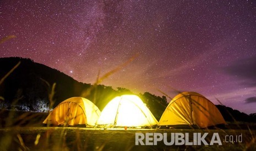
<svg viewBox="0 0 256 151"><path fill-rule="evenodd" d="M94 103L83 97L71 97L58 104L44 124L94 126L100 117L100 110Z"/></svg>

